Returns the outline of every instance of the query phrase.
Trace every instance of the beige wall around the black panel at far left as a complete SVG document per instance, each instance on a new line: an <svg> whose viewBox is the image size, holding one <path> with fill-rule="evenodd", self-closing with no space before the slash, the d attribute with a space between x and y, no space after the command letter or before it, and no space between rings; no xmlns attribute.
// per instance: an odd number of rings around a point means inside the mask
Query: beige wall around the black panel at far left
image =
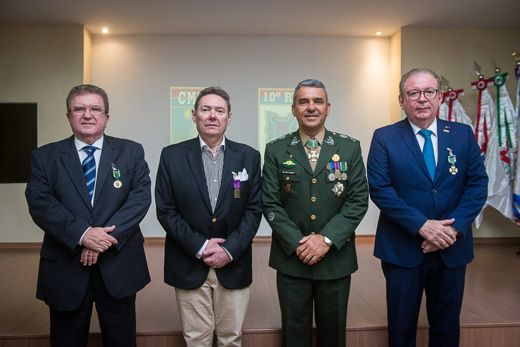
<svg viewBox="0 0 520 347"><path fill-rule="evenodd" d="M2 24L0 47L0 102L37 103L38 146L69 137L65 99L83 81L83 26ZM24 190L0 184L0 242L43 239Z"/></svg>

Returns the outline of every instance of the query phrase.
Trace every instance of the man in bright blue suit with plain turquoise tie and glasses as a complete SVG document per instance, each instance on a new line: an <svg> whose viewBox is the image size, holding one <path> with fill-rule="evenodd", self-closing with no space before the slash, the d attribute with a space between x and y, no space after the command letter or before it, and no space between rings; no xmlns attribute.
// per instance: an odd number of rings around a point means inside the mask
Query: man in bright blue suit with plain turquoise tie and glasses
<svg viewBox="0 0 520 347"><path fill-rule="evenodd" d="M368 155L370 197L381 210L374 256L386 279L389 346L415 346L423 291L429 345L459 345L471 223L488 177L471 128L436 118L440 89L431 70L402 76L407 118L375 130Z"/></svg>

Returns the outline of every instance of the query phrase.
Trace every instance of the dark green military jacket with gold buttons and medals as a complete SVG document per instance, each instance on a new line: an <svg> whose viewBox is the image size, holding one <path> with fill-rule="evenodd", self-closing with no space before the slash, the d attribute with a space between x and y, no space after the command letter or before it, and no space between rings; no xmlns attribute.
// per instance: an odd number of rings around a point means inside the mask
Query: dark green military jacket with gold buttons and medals
<svg viewBox="0 0 520 347"><path fill-rule="evenodd" d="M300 134L295 131L269 142L264 162L264 216L272 229L269 266L287 275L312 279L354 273L358 269L355 230L368 208L359 141L326 129L313 172ZM341 171L347 176L345 180L331 179L327 164L334 162L346 163ZM338 183L343 185L339 195ZM311 232L334 243L314 265L304 264L295 253L298 241Z"/></svg>

